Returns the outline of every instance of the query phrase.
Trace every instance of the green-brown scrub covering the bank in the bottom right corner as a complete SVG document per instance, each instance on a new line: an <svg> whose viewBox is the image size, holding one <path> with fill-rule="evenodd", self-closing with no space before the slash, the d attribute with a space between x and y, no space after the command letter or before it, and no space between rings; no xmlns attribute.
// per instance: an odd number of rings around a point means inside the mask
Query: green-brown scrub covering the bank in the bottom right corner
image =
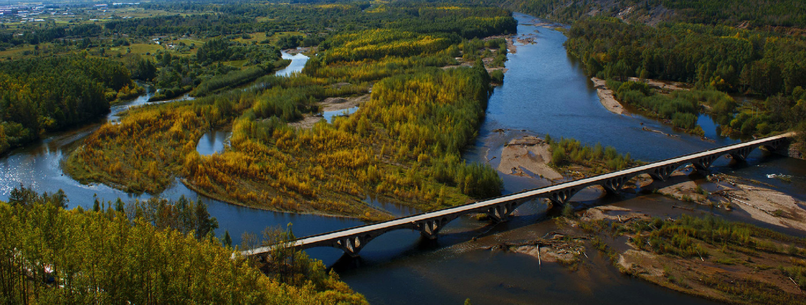
<svg viewBox="0 0 806 305"><path fill-rule="evenodd" d="M661 277L641 274L643 268L634 264L621 264L639 277L730 303L806 303L799 296L806 289L806 240L801 237L715 216L655 218L617 227L613 229L629 234L636 249L668 262ZM685 269L698 261L729 271Z"/></svg>

